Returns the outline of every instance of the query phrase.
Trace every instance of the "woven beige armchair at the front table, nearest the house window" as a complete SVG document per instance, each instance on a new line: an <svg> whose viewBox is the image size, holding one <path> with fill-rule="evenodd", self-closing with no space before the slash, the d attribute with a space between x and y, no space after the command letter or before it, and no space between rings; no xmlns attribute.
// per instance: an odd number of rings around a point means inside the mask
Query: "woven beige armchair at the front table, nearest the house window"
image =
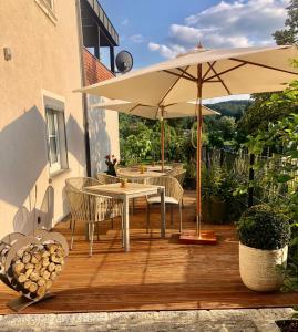
<svg viewBox="0 0 298 332"><path fill-rule="evenodd" d="M111 197L96 195L93 193L79 190L72 186L66 186L66 196L71 209L72 227L71 227L71 246L73 248L73 235L76 221L88 224L89 230L89 256L92 256L94 228L97 226L99 238L99 222L121 217L122 220L122 246L123 239L123 203L122 200L113 199Z"/></svg>

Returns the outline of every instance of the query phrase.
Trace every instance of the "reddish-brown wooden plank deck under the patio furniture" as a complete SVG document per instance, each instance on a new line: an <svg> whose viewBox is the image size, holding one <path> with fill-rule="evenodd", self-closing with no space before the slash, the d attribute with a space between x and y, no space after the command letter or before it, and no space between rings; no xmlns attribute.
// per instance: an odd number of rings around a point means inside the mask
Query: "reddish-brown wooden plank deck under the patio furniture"
<svg viewBox="0 0 298 332"><path fill-rule="evenodd" d="M175 216L176 229L178 218ZM101 239L88 257L83 226L78 228L74 250L55 281L56 297L24 310L24 313L88 311L185 310L288 307L298 303L296 293L257 293L242 283L238 241L234 226L204 226L216 230L217 246L187 246L176 230L160 238L158 210L152 214L153 230L145 231L145 210L137 206L131 222L131 251L121 248L120 221L101 227ZM185 197L184 225L194 228L194 197ZM167 218L168 220L169 218ZM56 227L70 238L69 224ZM16 294L0 284L0 314Z"/></svg>

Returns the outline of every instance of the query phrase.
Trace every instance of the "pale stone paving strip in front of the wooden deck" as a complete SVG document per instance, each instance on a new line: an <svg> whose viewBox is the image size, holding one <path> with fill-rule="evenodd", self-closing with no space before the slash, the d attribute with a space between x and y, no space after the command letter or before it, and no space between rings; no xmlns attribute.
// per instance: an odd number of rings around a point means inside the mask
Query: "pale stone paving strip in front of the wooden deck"
<svg viewBox="0 0 298 332"><path fill-rule="evenodd" d="M277 332L292 309L0 315L0 331Z"/></svg>

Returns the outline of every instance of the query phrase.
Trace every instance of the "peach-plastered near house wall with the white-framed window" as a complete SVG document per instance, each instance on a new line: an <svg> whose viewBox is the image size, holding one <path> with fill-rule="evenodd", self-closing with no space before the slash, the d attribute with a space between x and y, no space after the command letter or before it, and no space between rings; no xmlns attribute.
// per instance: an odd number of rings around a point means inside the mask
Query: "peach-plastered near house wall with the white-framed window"
<svg viewBox="0 0 298 332"><path fill-rule="evenodd" d="M112 144L119 151L117 117L94 108L102 115L97 121L88 113L90 97L73 93L93 75L89 54L101 65L82 45L82 2L90 6L88 0L0 2L0 238L64 218L65 179L86 175L89 155L96 153L94 174Z"/></svg>

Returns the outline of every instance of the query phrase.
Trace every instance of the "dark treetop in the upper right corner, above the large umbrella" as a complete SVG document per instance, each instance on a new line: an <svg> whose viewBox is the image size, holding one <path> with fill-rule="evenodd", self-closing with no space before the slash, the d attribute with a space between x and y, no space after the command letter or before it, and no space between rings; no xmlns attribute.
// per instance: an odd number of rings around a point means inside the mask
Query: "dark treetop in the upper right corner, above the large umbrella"
<svg viewBox="0 0 298 332"><path fill-rule="evenodd" d="M298 43L298 0L290 0L287 7L286 29L277 30L273 37L278 45Z"/></svg>

